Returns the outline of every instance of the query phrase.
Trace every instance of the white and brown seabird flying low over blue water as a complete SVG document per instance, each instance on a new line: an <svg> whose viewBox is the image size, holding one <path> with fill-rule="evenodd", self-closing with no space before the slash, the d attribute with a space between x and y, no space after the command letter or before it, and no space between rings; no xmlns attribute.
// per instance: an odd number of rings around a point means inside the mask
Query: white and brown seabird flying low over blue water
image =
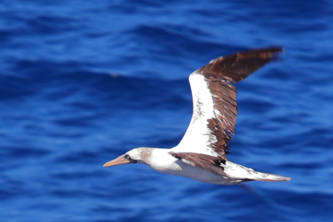
<svg viewBox="0 0 333 222"><path fill-rule="evenodd" d="M229 161L228 143L237 114L236 84L283 51L254 49L221 56L189 75L193 113L188 128L173 148L138 147L105 163L143 163L154 170L212 184L286 181L290 177L263 173Z"/></svg>

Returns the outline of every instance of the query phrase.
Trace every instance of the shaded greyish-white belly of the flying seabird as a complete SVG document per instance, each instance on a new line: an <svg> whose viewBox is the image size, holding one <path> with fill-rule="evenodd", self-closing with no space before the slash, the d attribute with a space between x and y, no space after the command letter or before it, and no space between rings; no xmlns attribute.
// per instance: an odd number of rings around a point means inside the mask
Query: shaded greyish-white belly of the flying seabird
<svg viewBox="0 0 333 222"><path fill-rule="evenodd" d="M214 173L211 173L209 171L206 171L204 169L194 167L191 165L188 165L186 163L183 163L181 161L174 162L174 164L178 165L179 170L173 169L165 169L165 170L157 170L161 173L171 174L171 175L177 175L177 176L183 176L188 177L193 180L197 180L203 183L212 183L212 184L220 184L220 185L232 185L234 183L231 183L230 180L227 178L224 178L221 175L217 175Z"/></svg>

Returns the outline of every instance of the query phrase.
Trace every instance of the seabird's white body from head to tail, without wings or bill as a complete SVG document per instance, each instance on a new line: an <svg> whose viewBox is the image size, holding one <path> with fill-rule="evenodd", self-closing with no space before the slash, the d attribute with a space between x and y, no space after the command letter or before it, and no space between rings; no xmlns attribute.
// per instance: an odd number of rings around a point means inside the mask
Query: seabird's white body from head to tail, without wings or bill
<svg viewBox="0 0 333 222"><path fill-rule="evenodd" d="M178 149L181 148L178 146L171 149L139 147L128 151L126 154L133 156L140 163L144 163L160 173L188 177L204 183L232 185L240 183L244 179L265 181L288 179L288 177L276 174L257 172L228 160L226 160L225 164L221 165L224 168L226 176L218 175L199 167L191 166L186 163L186 160L175 158L169 154L169 152ZM142 153L146 153L147 155L142 155ZM143 156L147 156L147 158L142 158Z"/></svg>

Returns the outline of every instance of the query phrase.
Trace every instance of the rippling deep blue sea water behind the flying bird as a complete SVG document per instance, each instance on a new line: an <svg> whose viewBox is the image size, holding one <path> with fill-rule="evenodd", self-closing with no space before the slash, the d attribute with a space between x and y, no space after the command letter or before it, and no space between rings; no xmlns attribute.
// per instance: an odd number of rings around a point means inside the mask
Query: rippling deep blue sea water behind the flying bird
<svg viewBox="0 0 333 222"><path fill-rule="evenodd" d="M1 221L332 221L332 1L0 2ZM187 76L283 45L237 85L228 158L289 182L204 184L145 165L191 115Z"/></svg>

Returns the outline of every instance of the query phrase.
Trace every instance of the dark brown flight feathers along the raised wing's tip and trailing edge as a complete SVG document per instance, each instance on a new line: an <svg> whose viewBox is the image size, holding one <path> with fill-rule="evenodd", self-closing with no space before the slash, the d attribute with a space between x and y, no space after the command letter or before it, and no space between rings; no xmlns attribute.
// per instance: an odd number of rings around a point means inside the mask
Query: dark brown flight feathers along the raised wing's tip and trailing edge
<svg viewBox="0 0 333 222"><path fill-rule="evenodd" d="M276 53L282 51L281 47L249 50L237 52L229 56L221 56L196 70L205 77L214 103L215 117L207 119L207 126L211 134L216 136L217 142L212 142L211 147L218 154L225 155L229 152L228 142L234 135L236 123L237 103L236 87L230 83L237 83L246 78L266 63L275 58Z"/></svg>

